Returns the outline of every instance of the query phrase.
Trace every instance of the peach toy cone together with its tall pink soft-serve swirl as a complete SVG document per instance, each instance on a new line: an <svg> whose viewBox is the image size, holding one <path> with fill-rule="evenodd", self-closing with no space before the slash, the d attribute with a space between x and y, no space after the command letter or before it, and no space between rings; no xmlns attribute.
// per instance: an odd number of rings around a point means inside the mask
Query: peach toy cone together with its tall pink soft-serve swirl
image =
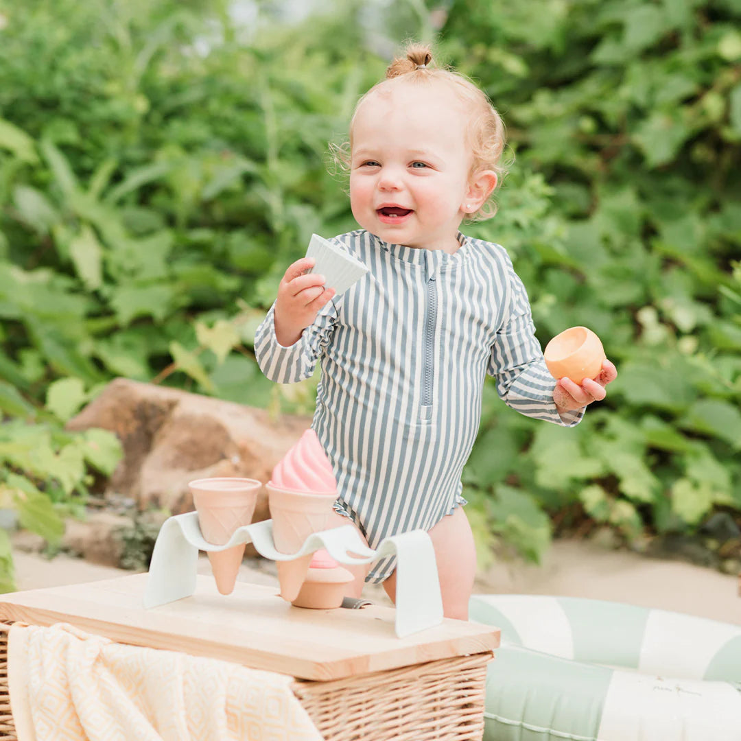
<svg viewBox="0 0 741 741"><path fill-rule="evenodd" d="M310 534L327 529L337 482L313 430L307 430L273 468L267 488L277 551L295 554ZM298 596L310 561L311 555L277 562L281 597L288 602Z"/></svg>

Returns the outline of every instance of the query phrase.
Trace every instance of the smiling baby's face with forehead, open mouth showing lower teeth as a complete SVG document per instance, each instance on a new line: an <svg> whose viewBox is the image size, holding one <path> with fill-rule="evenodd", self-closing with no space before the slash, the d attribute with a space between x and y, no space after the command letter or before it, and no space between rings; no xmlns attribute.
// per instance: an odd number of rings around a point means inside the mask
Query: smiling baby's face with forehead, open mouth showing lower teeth
<svg viewBox="0 0 741 741"><path fill-rule="evenodd" d="M453 252L471 162L451 90L409 83L376 90L353 123L353 216L384 242Z"/></svg>

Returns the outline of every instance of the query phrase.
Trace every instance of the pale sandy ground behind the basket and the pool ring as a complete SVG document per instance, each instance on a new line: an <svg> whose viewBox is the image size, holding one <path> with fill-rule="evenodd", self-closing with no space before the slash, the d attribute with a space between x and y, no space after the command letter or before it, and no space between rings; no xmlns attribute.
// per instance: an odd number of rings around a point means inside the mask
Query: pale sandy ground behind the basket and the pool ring
<svg viewBox="0 0 741 741"><path fill-rule="evenodd" d="M16 551L13 559L19 589L92 582L133 573L64 555L47 560ZM210 574L203 554L199 572ZM272 562L257 559L245 561L239 579L277 584ZM540 566L519 562L497 565L485 579L479 579L476 591L608 599L741 625L738 584L736 576L684 562L608 551L588 542L562 541L554 543ZM380 587L366 586L364 596L390 604Z"/></svg>

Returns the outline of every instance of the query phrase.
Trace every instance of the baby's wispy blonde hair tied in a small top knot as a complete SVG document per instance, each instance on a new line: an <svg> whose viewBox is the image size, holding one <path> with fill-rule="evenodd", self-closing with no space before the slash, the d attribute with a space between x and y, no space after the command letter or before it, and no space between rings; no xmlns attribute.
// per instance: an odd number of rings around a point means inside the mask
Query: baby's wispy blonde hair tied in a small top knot
<svg viewBox="0 0 741 741"><path fill-rule="evenodd" d="M405 56L396 57L388 65L385 79L373 85L357 102L353 117L350 119L348 141L342 144L330 144L330 154L336 170L347 173L350 169L353 124L360 104L371 93L388 86L388 84L399 84L399 82L409 82L410 84L437 83L448 85L465 105L465 110L469 115L466 130L468 144L473 155L471 174L479 170L493 170L496 173L496 185L498 186L506 172L506 166L502 162L505 148L505 125L486 93L461 73L447 67L437 67L431 47L428 44L410 43L407 44L404 52ZM496 203L492 196L489 196L476 213L466 216L466 220L472 222L491 219L495 213Z"/></svg>

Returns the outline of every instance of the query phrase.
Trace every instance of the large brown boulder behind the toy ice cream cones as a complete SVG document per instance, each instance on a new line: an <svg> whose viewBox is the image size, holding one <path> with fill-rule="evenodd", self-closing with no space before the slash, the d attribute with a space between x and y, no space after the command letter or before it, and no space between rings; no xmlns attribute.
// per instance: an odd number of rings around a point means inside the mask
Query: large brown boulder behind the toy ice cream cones
<svg viewBox="0 0 741 741"><path fill-rule="evenodd" d="M139 511L182 514L193 509L187 482L246 476L265 483L309 425L307 417L273 420L262 409L116 379L67 428L104 428L121 441L124 458L106 483L106 496L130 496ZM263 488L254 521L268 516Z"/></svg>

